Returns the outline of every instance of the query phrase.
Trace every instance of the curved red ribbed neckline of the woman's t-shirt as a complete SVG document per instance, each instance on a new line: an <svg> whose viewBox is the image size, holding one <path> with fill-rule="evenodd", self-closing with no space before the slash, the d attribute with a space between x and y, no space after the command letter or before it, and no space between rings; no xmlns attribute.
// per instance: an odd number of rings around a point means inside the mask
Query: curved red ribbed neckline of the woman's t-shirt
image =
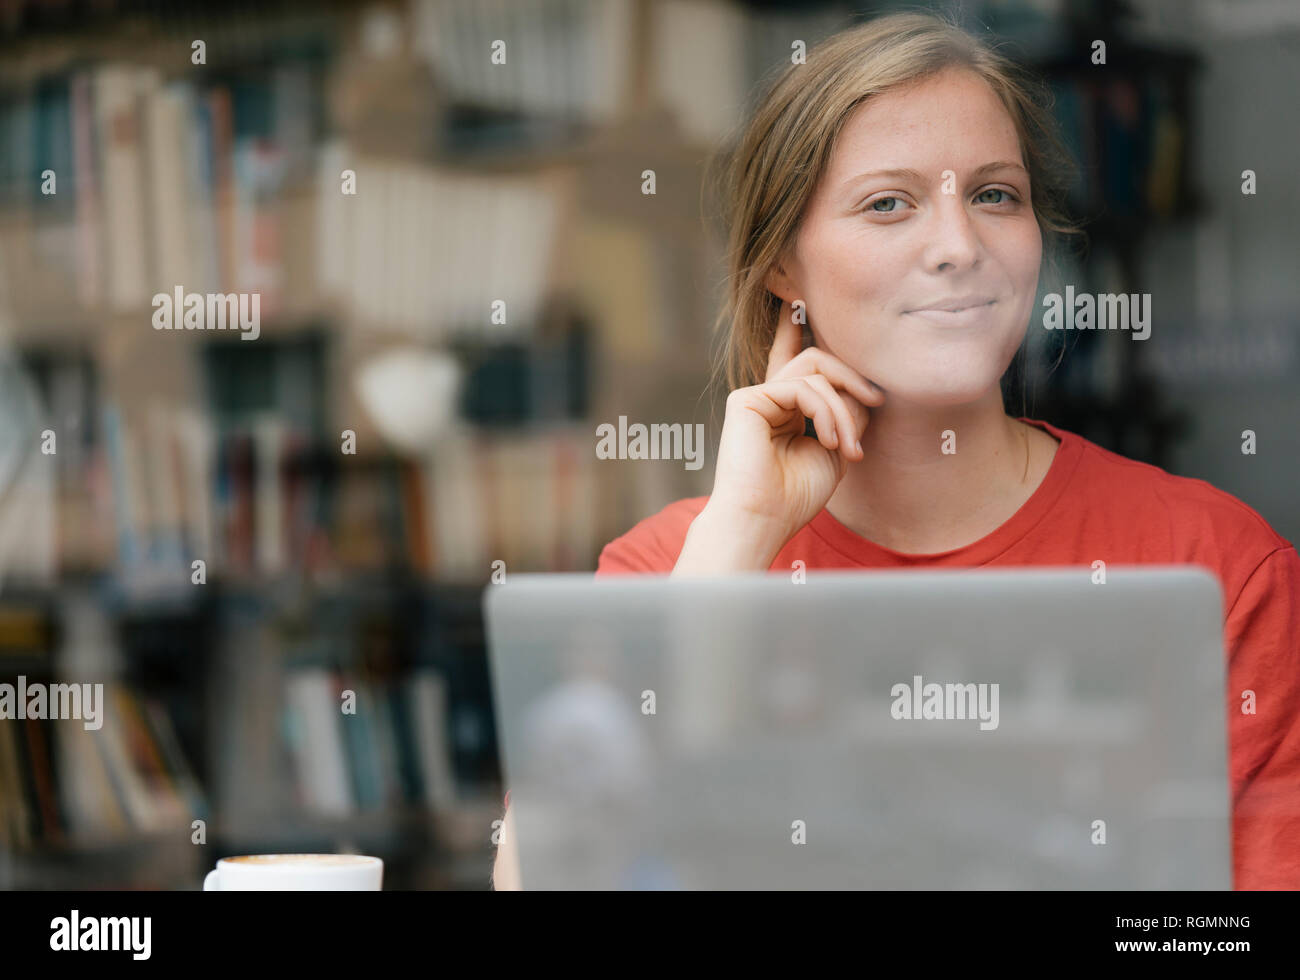
<svg viewBox="0 0 1300 980"><path fill-rule="evenodd" d="M1043 482L1030 495L1030 499L1020 504L1020 508L1001 526L994 528L979 541L949 551L931 554L894 551L849 530L824 507L809 521L809 529L841 555L862 565L982 565L992 561L1028 534L1056 506L1083 455L1083 439L1075 433L1058 429L1039 419L1019 416L1018 420L1043 429L1060 439L1061 445L1057 446L1046 476L1043 477Z"/></svg>

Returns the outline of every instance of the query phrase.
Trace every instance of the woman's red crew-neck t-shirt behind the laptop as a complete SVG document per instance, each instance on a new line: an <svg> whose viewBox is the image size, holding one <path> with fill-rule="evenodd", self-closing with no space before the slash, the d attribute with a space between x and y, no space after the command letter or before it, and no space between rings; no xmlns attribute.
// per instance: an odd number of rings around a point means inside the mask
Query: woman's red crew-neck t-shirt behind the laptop
<svg viewBox="0 0 1300 980"><path fill-rule="evenodd" d="M965 547L906 555L827 511L772 561L806 568L1199 564L1223 587L1232 875L1238 889L1300 889L1300 555L1251 507L1204 480L1173 476L1082 435L1054 435L1052 467L997 530ZM671 572L708 498L668 504L601 551L597 574ZM1254 714L1243 714L1244 690Z"/></svg>

